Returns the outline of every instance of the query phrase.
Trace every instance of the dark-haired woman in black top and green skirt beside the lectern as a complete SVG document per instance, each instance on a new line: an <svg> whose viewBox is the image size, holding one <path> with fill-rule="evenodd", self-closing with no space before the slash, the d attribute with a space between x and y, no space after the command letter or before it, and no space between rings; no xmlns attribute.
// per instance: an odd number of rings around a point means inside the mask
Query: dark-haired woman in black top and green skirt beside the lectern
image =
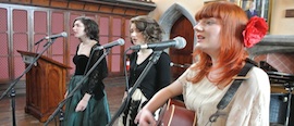
<svg viewBox="0 0 294 126"><path fill-rule="evenodd" d="M94 50L99 45L98 24L88 17L77 17L73 24L74 36L81 40L73 58L75 73L70 80L68 94L81 84L79 81L102 55L102 50ZM65 105L65 126L106 126L110 121L110 111L102 79L108 75L103 59L89 74Z"/></svg>

